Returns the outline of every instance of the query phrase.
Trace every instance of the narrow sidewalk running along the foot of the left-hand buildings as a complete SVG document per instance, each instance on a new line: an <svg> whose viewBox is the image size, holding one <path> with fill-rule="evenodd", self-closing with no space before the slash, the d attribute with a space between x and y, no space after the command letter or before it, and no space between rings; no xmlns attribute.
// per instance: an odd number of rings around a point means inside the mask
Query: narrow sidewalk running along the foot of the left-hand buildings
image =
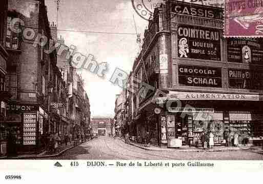
<svg viewBox="0 0 263 184"><path fill-rule="evenodd" d="M89 140L90 139L78 144L78 146L86 143ZM44 152L42 152L40 154L18 155L18 156L14 156L14 157L5 156L5 157L0 157L0 159L37 159L37 158L46 158L46 157L56 157L56 156L59 156L59 155L63 154L64 152L66 152L66 151L68 151L68 150L70 150L72 148L74 148L74 143L73 142L69 143L68 146L66 146L65 144L60 145L57 148L56 153L53 153L53 154L50 154L48 151L44 151Z"/></svg>

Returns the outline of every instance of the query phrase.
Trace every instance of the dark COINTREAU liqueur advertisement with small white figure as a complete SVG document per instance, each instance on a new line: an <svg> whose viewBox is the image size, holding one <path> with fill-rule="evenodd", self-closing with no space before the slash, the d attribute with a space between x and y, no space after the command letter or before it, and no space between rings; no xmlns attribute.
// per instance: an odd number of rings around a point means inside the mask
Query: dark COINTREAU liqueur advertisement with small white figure
<svg viewBox="0 0 263 184"><path fill-rule="evenodd" d="M221 60L220 32L198 26L178 26L178 57Z"/></svg>

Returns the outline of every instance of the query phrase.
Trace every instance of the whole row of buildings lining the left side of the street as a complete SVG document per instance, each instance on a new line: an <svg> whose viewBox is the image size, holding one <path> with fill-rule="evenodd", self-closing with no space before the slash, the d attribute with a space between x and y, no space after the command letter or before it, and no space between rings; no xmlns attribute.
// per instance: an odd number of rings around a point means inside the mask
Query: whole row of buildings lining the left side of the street
<svg viewBox="0 0 263 184"><path fill-rule="evenodd" d="M60 66L59 48L53 49L57 29L49 23L45 1L4 2L0 18L0 141L13 138L3 152L8 148L15 148L18 154L42 152L54 133L62 140L74 132L84 136L90 118L89 99L69 55L67 70Z"/></svg>

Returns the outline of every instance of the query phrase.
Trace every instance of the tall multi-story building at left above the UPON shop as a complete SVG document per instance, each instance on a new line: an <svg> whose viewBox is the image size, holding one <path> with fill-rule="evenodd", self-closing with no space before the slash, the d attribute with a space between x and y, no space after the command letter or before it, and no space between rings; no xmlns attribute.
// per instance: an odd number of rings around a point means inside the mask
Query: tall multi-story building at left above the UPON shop
<svg viewBox="0 0 263 184"><path fill-rule="evenodd" d="M25 34L26 28L30 28L30 36ZM41 36L47 37L46 45L35 42ZM53 70L56 66L56 53L44 52L50 39L45 1L8 1L6 87L11 97L6 122L17 137L18 151L40 150L42 137L48 132L50 67Z"/></svg>

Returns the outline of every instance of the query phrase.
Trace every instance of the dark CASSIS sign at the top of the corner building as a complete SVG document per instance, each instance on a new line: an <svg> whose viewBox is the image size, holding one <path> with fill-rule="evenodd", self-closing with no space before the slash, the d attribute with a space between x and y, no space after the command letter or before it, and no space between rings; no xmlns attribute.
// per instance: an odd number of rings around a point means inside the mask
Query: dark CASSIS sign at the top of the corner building
<svg viewBox="0 0 263 184"><path fill-rule="evenodd" d="M184 4L180 2L171 5L171 12L176 14L197 16L202 18L223 19L224 13L222 9L212 7L198 6L194 4Z"/></svg>

